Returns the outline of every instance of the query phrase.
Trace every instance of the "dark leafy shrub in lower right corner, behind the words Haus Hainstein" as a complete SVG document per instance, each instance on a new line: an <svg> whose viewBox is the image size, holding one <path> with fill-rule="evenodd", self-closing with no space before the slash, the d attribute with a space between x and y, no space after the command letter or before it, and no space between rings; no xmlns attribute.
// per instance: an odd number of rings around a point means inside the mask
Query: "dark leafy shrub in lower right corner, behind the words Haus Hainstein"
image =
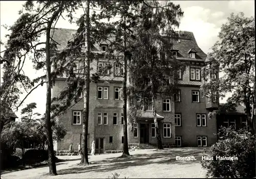
<svg viewBox="0 0 256 179"><path fill-rule="evenodd" d="M255 176L255 138L246 129L234 131L221 128L217 134L219 141L210 147L207 156L213 160L200 163L207 169L206 177L254 177ZM216 156L232 157L238 160L217 160Z"/></svg>

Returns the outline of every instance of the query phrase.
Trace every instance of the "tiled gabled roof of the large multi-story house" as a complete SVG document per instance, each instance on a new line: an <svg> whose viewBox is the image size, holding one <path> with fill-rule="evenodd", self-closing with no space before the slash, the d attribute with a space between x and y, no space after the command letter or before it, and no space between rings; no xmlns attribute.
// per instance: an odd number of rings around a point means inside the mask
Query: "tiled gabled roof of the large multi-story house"
<svg viewBox="0 0 256 179"><path fill-rule="evenodd" d="M67 46L69 40L73 38L72 33L76 32L75 29L60 29L55 28L51 30L51 35L53 34L53 40L56 43L57 50L60 51ZM110 40L114 37L110 37ZM179 60L193 60L193 61L205 61L207 55L198 47L197 41L194 37L192 32L182 31L181 35L179 36L180 43L177 40L173 40L173 50L178 51L177 59ZM109 42L103 42L107 43ZM196 58L190 58L189 54L187 53L191 49L194 49L196 54ZM100 52L99 44L94 44L91 48L92 51Z"/></svg>

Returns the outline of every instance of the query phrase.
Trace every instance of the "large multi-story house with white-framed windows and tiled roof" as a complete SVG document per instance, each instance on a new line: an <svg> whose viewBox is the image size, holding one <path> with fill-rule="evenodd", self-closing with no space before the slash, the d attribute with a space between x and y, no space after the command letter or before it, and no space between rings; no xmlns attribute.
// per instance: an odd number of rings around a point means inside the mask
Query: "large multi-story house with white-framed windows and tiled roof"
<svg viewBox="0 0 256 179"><path fill-rule="evenodd" d="M57 42L57 50L66 46L74 32L76 30L54 30L53 39ZM94 44L92 51L100 53L106 51L106 48L108 45L105 43ZM209 110L213 105L208 103L200 91L203 81L201 68L205 65L206 54L198 47L193 33L186 31L180 33L178 41L174 41L172 53L177 59L186 61L188 65L183 75L178 72L179 94L157 98L157 120L162 143L165 145L176 143L177 146L210 146L217 141L214 136L217 132L217 122L216 119L208 119ZM89 144L96 141L96 153L103 153L104 150L122 150L123 143L121 67L118 63L101 58L92 61L91 73L97 72L101 66L108 63L114 68L105 71L104 76L101 76L97 83L90 84ZM79 66L80 63L77 61L75 69L77 72ZM57 97L66 85L66 78L57 78L52 97ZM66 126L68 133L63 141L58 142L58 150L68 150L71 143L73 145L81 143L83 98L82 95L80 97L81 100L77 104L59 117L59 122ZM137 98L136 102L139 103L140 99ZM142 108L138 108L134 130L128 129L129 143L157 143L152 106L144 107L147 109L145 112Z"/></svg>

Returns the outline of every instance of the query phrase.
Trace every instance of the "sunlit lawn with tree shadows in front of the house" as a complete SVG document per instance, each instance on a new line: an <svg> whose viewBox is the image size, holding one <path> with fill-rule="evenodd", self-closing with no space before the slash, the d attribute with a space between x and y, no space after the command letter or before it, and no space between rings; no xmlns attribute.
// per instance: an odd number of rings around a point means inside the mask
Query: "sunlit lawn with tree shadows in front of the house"
<svg viewBox="0 0 256 179"><path fill-rule="evenodd" d="M168 148L164 150L131 151L130 158L118 158L121 153L89 156L90 165L78 166L80 156L58 156L65 162L56 164L56 176L49 176L49 167L33 168L2 174L1 178L107 178L112 173L119 178L181 178L205 177L201 156L203 148ZM197 161L177 161L176 156L194 156Z"/></svg>

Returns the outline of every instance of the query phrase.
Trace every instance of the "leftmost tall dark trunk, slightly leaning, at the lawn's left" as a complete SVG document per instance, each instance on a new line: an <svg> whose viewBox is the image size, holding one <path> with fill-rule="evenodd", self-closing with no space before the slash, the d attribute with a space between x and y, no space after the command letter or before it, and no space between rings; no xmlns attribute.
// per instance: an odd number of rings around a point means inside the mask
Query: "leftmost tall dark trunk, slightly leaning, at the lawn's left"
<svg viewBox="0 0 256 179"><path fill-rule="evenodd" d="M46 32L46 133L48 142L48 162L49 174L57 175L56 165L54 160L53 140L52 140L52 127L51 127L51 64L50 64L50 31L51 23L48 24Z"/></svg>

